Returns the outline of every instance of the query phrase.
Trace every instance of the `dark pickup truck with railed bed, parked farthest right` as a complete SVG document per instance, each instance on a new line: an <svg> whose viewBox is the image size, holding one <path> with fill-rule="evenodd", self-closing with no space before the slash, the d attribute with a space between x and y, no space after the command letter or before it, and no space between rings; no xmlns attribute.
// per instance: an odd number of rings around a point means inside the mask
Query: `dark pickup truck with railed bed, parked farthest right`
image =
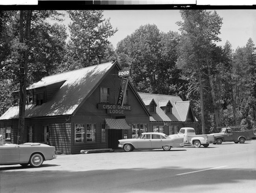
<svg viewBox="0 0 256 193"><path fill-rule="evenodd" d="M215 144L221 144L223 141L234 141L234 143L244 143L245 140L254 138L252 130L246 130L243 127L225 127L219 133L211 133L214 135Z"/></svg>

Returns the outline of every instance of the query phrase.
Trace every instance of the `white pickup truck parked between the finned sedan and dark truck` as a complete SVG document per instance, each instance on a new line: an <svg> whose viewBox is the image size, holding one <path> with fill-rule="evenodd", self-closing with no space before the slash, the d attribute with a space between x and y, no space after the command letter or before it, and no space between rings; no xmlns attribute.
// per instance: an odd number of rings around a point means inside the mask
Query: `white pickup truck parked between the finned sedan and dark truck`
<svg viewBox="0 0 256 193"><path fill-rule="evenodd" d="M215 142L213 135L196 135L195 129L191 127L183 127L180 129L179 133L174 135L169 135L170 138L183 138L184 146L194 145L199 148L202 144L204 148L207 148L210 143Z"/></svg>

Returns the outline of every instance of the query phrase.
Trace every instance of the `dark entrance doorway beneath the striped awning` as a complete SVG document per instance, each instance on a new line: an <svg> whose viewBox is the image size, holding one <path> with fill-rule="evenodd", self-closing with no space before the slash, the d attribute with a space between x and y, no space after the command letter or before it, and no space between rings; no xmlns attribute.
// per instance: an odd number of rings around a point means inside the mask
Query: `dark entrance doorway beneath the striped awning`
<svg viewBox="0 0 256 193"><path fill-rule="evenodd" d="M107 129L108 148L118 149L118 140L122 139L122 129Z"/></svg>

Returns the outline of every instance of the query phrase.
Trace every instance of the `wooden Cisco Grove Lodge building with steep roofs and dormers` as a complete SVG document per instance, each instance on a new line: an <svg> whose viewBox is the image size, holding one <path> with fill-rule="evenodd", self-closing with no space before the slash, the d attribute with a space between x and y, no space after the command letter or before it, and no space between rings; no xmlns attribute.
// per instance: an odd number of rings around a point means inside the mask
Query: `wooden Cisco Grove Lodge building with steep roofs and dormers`
<svg viewBox="0 0 256 193"><path fill-rule="evenodd" d="M179 96L138 93L130 81L119 105L120 70L113 61L44 77L28 87L25 141L78 154L80 150L116 149L118 139L142 132L168 135L181 127L196 127L189 102ZM13 92L13 99L13 106L0 117L4 143L17 141L18 92Z"/></svg>

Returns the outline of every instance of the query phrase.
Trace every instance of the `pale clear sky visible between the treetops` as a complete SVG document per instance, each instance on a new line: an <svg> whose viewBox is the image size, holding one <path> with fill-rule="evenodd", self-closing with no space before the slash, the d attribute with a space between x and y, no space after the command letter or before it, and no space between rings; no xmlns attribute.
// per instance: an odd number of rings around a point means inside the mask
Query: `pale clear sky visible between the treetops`
<svg viewBox="0 0 256 193"><path fill-rule="evenodd" d="M238 46L245 46L249 38L256 44L256 10L220 9L216 12L223 18L219 35L221 42L217 42L217 45L225 45L228 40L232 49L236 50ZM182 21L179 10L104 10L103 15L110 18L113 28L118 29L109 39L115 48L120 40L134 33L140 26L150 23L155 24L161 32L180 33L176 22Z"/></svg>

